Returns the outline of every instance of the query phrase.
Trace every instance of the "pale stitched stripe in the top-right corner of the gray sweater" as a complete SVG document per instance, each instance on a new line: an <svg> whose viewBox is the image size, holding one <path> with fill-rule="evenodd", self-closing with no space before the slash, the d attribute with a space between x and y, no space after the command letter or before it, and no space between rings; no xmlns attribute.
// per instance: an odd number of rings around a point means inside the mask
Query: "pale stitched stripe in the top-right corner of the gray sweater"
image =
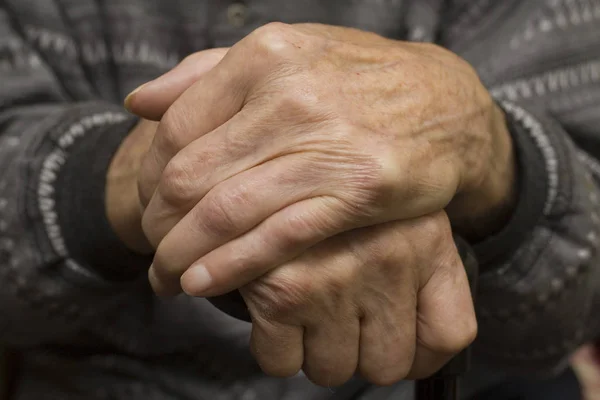
<svg viewBox="0 0 600 400"><path fill-rule="evenodd" d="M512 49L527 45L535 37L555 30L593 23L600 20L600 3L594 0L548 0L525 30L510 41Z"/></svg>

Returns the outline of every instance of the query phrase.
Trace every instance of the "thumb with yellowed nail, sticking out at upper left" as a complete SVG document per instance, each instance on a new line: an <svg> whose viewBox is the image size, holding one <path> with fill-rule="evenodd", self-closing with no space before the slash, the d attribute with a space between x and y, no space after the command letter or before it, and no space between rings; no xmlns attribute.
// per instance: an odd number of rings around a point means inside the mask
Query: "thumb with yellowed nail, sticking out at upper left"
<svg viewBox="0 0 600 400"><path fill-rule="evenodd" d="M229 49L199 51L187 56L166 74L143 84L125 98L129 112L159 121L177 98L202 75L215 67Z"/></svg>

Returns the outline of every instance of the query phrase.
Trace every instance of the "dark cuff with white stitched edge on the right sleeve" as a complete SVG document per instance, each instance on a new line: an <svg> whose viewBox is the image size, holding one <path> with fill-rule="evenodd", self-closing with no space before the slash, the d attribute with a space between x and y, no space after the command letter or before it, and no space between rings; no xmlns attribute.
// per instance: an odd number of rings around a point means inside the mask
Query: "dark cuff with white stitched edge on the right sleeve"
<svg viewBox="0 0 600 400"><path fill-rule="evenodd" d="M552 197L551 169L556 166L542 124L517 105L503 102L500 107L517 159L518 198L507 225L473 246L482 272L507 263L548 212Z"/></svg>

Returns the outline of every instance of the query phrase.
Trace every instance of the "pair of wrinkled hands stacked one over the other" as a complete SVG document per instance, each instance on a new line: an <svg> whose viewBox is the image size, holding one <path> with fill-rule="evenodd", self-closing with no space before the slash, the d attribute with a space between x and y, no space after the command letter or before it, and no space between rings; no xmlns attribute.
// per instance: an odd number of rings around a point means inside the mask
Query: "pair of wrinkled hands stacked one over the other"
<svg viewBox="0 0 600 400"><path fill-rule="evenodd" d="M514 166L502 114L466 62L270 24L190 56L126 104L160 121L138 179L154 289L240 289L265 372L391 384L473 340L446 211L455 227L490 219Z"/></svg>

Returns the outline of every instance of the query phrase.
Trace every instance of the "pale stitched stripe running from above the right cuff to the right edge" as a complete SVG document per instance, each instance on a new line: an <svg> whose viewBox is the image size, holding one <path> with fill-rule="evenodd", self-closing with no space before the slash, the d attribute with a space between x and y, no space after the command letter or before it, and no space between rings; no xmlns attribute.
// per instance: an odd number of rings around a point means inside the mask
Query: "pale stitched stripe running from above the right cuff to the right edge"
<svg viewBox="0 0 600 400"><path fill-rule="evenodd" d="M542 97L598 82L600 82L600 59L504 83L493 87L490 92L499 99L518 101L520 99Z"/></svg>

